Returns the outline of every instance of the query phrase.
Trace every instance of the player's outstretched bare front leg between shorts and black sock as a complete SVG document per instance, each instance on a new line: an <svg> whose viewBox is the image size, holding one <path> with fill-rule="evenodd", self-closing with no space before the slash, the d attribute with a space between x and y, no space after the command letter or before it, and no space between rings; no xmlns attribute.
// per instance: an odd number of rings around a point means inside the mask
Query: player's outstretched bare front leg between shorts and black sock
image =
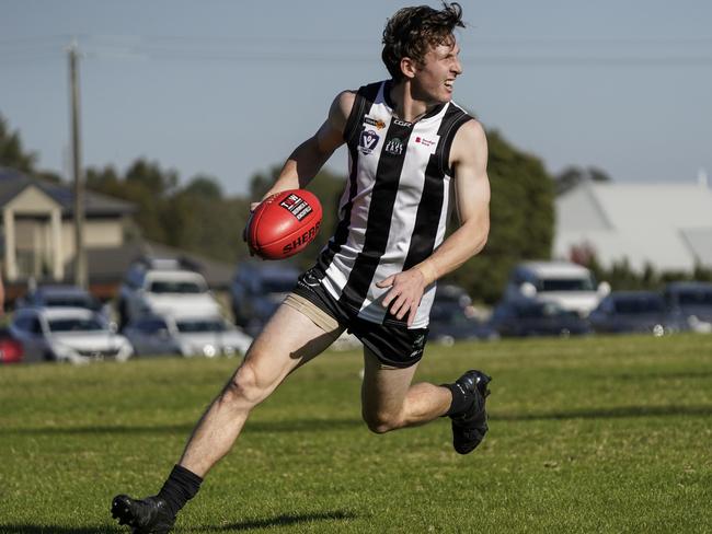
<svg viewBox="0 0 712 534"><path fill-rule="evenodd" d="M251 409L340 334L341 328L325 333L306 315L282 305L198 421L180 465L204 477L230 451Z"/></svg>

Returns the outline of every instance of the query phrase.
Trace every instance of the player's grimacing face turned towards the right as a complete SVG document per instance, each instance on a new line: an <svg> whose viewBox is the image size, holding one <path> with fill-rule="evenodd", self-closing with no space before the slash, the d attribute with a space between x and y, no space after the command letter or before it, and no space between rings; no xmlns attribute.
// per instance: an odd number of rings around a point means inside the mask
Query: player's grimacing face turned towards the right
<svg viewBox="0 0 712 534"><path fill-rule="evenodd" d="M452 100L455 79L462 73L458 54L460 47L455 37L430 48L413 79L416 97L428 103L445 103Z"/></svg>

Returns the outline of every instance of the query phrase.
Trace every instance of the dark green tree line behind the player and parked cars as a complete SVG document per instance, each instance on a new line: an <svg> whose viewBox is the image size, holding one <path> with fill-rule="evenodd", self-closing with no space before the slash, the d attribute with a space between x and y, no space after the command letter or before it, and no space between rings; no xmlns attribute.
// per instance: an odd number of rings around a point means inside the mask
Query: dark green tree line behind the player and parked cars
<svg viewBox="0 0 712 534"><path fill-rule="evenodd" d="M549 174L538 156L527 153L496 131L487 131L490 160L487 173L492 188L491 231L485 248L446 280L464 287L476 300L496 302L510 269L522 259L551 257L554 237L554 199L582 179L610 179L596 169L570 167L560 175ZM16 169L39 179L61 178L36 167L36 155L22 146L19 132L11 131L0 115L0 166ZM183 182L179 173L158 162L137 159L125 172L107 165L88 167L87 187L136 206L127 237L163 243L227 263L249 257L242 231L250 202L260 199L274 182L280 165L252 176L248 195L226 195L216 177L196 175ZM337 220L337 205L345 176L320 172L309 185L323 205L322 231L310 247L295 258L298 267L312 265L331 236ZM453 218L456 217L453 210ZM456 228L457 221L451 221ZM607 272L592 265L601 279L613 287L621 281L634 287L659 281L656 274L634 274L616 267ZM613 279L611 279L611 275ZM633 281L631 281L633 280Z"/></svg>

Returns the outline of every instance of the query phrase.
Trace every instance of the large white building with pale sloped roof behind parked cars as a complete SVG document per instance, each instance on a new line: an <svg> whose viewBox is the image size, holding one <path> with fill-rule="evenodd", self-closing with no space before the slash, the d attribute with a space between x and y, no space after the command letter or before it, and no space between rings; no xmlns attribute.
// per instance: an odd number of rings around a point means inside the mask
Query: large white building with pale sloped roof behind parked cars
<svg viewBox="0 0 712 534"><path fill-rule="evenodd" d="M583 182L556 199L554 257L593 252L604 267L712 267L712 189L699 184Z"/></svg>

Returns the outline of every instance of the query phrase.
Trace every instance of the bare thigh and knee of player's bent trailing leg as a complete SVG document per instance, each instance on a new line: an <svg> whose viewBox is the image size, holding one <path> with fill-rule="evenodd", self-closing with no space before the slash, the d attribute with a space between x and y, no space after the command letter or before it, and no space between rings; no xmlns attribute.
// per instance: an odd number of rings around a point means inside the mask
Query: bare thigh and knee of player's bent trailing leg
<svg viewBox="0 0 712 534"><path fill-rule="evenodd" d="M361 406L365 416L400 414L413 382L417 363L401 369L383 365L376 355L364 347L364 382Z"/></svg>

